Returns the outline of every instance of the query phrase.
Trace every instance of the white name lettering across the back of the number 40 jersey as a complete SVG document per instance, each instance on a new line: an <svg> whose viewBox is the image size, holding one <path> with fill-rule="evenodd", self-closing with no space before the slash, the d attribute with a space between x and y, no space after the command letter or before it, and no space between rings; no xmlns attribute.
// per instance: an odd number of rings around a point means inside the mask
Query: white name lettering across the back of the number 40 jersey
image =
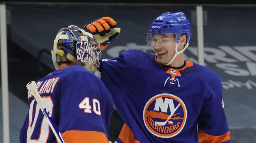
<svg viewBox="0 0 256 143"><path fill-rule="evenodd" d="M37 82L37 86L36 89L38 90L39 87L41 86L40 90L39 90L39 94L44 94L44 93L53 93L54 87L57 83L57 81L59 80L59 77L56 78L50 78L48 80L45 81L38 81ZM28 91L28 98L32 97L33 94L31 91Z"/></svg>

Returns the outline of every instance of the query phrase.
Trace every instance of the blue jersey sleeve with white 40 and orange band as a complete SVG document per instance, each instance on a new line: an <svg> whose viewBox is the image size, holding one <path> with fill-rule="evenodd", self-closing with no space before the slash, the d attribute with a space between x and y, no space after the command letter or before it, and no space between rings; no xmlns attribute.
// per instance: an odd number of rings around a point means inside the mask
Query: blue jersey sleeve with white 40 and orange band
<svg viewBox="0 0 256 143"><path fill-rule="evenodd" d="M61 93L59 131L67 143L108 143L104 92L93 81L74 81ZM111 106L110 106L111 107ZM113 107L112 107L113 108Z"/></svg>

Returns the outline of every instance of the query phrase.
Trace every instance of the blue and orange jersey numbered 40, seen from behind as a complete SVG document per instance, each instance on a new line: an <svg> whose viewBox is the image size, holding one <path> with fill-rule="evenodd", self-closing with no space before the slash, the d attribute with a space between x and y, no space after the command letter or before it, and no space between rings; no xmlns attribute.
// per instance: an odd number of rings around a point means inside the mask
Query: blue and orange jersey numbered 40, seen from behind
<svg viewBox="0 0 256 143"><path fill-rule="evenodd" d="M73 65L37 81L37 90L66 143L108 143L113 100L93 72ZM56 143L32 93L20 143Z"/></svg>

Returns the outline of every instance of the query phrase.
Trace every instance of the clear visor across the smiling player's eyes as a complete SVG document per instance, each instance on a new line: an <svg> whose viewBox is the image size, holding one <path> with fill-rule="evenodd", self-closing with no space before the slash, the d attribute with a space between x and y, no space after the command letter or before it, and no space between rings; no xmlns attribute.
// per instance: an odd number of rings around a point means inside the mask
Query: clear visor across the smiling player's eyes
<svg viewBox="0 0 256 143"><path fill-rule="evenodd" d="M175 35L175 36L174 36ZM174 46L180 42L179 34L151 34L147 33L148 46Z"/></svg>

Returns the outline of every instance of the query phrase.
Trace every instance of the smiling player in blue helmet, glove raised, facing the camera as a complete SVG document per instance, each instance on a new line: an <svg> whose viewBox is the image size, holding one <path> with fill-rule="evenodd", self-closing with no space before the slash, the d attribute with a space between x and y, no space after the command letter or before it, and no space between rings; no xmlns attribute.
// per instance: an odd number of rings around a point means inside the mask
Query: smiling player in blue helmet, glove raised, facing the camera
<svg viewBox="0 0 256 143"><path fill-rule="evenodd" d="M96 41L106 45L120 32L107 33L116 29L109 19L84 28L95 35L105 31ZM156 55L129 50L100 65L101 80L126 123L117 143L230 143L219 76L184 60L191 37L187 16L163 13L149 30L147 45Z"/></svg>

